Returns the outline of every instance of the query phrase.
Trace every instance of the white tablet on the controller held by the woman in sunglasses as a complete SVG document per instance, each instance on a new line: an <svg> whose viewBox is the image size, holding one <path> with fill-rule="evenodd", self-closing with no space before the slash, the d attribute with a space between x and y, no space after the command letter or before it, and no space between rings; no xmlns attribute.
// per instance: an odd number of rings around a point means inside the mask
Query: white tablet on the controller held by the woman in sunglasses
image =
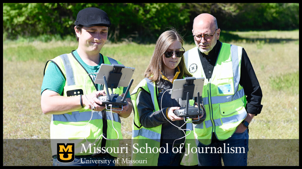
<svg viewBox="0 0 302 169"><path fill-rule="evenodd" d="M190 80L194 80L194 92L193 97L197 97L197 93L199 92L199 96L202 94L202 89L204 88L204 78L195 78L190 77ZM171 99L182 98L184 92L184 86L187 84L186 79L175 79L173 81L172 87L172 95Z"/></svg>

